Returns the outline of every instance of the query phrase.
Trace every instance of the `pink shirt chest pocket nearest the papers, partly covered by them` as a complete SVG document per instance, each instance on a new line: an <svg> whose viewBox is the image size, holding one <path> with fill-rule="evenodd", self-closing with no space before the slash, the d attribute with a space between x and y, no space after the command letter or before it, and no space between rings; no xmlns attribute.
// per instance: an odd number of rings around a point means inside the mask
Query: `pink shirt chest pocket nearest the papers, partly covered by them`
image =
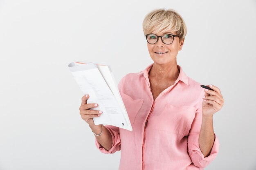
<svg viewBox="0 0 256 170"><path fill-rule="evenodd" d="M124 102L124 106L126 108L128 117L130 119L130 123L133 124L136 115L139 113L141 106L144 102L144 99L133 99L132 97L122 93L122 100Z"/></svg>

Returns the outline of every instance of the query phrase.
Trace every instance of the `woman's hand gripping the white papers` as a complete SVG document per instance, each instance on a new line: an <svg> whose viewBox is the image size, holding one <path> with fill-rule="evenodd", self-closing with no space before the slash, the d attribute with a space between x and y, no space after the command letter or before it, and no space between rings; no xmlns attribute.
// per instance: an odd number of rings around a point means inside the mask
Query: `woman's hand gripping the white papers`
<svg viewBox="0 0 256 170"><path fill-rule="evenodd" d="M92 117L99 117L102 112L100 110L91 110L90 108L96 108L98 107L98 104L92 103L92 104L87 104L87 99L89 98L89 95L84 95L82 97L82 104L79 108L80 110L80 115L83 120L86 121L89 125L94 125L94 121Z"/></svg>

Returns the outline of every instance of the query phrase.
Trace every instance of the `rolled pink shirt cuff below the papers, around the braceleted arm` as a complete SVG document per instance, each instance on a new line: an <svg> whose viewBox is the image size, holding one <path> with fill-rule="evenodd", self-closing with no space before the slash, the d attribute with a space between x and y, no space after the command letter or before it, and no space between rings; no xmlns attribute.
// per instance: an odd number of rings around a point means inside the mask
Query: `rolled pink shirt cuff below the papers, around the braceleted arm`
<svg viewBox="0 0 256 170"><path fill-rule="evenodd" d="M107 126L104 126L104 127L106 129L108 129L108 131L110 132L110 134L112 136L112 147L110 150L106 150L105 148L103 148L103 146L101 146L101 144L99 143L99 141L97 141L97 138L95 137L95 144L96 144L97 148L99 149L99 151L102 153L105 153L105 154L113 154L116 151L121 150L120 134Z"/></svg>

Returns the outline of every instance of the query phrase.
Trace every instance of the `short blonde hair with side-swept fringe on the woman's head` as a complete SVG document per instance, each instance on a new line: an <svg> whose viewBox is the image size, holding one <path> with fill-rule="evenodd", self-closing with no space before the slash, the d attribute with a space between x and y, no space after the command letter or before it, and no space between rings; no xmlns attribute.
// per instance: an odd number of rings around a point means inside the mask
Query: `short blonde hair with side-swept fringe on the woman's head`
<svg viewBox="0 0 256 170"><path fill-rule="evenodd" d="M161 32L173 30L179 36L179 40L183 40L186 36L186 24L177 11L174 9L155 9L148 13L142 23L144 35L153 31Z"/></svg>

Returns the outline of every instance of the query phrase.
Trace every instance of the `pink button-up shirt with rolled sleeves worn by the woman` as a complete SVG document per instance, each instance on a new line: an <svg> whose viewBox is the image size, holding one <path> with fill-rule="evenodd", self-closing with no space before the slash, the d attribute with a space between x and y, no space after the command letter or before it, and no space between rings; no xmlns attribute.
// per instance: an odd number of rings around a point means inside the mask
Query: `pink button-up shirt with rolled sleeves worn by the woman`
<svg viewBox="0 0 256 170"><path fill-rule="evenodd" d="M132 131L105 125L112 148L106 150L96 138L95 144L105 154L121 150L119 170L203 170L219 150L216 135L208 157L199 147L204 88L177 65L179 77L154 101L148 79L152 66L125 75L118 84Z"/></svg>

